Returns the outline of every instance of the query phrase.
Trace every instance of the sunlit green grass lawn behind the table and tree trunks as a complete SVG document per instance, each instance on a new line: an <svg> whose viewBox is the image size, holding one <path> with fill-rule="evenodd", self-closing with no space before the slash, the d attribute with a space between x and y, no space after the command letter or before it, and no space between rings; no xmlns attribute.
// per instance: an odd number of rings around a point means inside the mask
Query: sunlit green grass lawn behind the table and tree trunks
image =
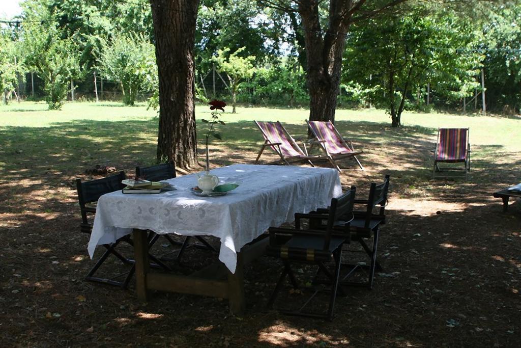
<svg viewBox="0 0 521 348"><path fill-rule="evenodd" d="M238 107L237 114L221 115L222 141L211 144L213 165L252 163L263 142L254 119L281 121L295 137L306 135L305 109ZM196 118L210 118L206 105L196 107ZM431 153L438 127L469 127L474 169L486 171L497 165L513 170L521 151L519 118L407 112L404 126L390 127L382 110L338 110L336 124L363 149L363 164L370 171L386 169L407 178L413 186L430 178ZM157 112L145 104L129 107L115 102L66 103L63 110L48 111L43 102L0 106L0 169L4 179L54 173L74 178L96 164L131 171L135 165L155 161ZM205 129L202 122L197 123ZM204 131L200 131L202 144ZM202 146L201 146L202 148ZM267 157L269 159L269 156ZM513 167L509 164L512 164ZM476 176L478 181L488 180Z"/></svg>

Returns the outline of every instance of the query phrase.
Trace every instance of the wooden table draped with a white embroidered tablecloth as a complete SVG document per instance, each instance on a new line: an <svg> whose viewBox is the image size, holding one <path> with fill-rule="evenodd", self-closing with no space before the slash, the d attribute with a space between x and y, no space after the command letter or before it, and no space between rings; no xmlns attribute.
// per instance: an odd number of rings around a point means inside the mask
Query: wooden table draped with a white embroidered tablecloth
<svg viewBox="0 0 521 348"><path fill-rule="evenodd" d="M190 188L197 176L169 179L177 190L158 195L121 192L98 200L89 242L114 243L132 233L136 291L146 301L149 290L227 298L232 313L245 307L244 268L264 253L269 226L293 221L295 212L311 211L342 194L338 172L328 168L236 164L212 170L222 181L240 181L221 197L197 197ZM210 235L220 239L219 261L189 276L149 269L146 230L158 234Z"/></svg>

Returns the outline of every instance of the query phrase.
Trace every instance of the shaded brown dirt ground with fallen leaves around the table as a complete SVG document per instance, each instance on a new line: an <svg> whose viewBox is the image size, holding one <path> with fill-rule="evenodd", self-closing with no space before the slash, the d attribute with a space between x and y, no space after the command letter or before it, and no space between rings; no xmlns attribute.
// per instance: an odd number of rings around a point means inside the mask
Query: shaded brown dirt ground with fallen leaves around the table
<svg viewBox="0 0 521 348"><path fill-rule="evenodd" d="M347 295L337 298L332 322L265 309L280 272L280 263L268 257L246 271L247 310L241 317L231 316L222 299L153 293L142 304L133 283L121 290L86 282L94 261L86 253L89 236L79 231L73 179L101 176L49 171L35 173L39 179L5 183L0 189L0 346L519 347L521 205L517 201L502 212L492 193L520 181L521 157L504 154L501 163L493 163L497 157L478 155L467 181L432 180L430 144L421 138L401 136L389 143L385 156L381 144L366 143L360 157L366 171L341 174L342 184L356 185L363 197L371 181L389 173L391 193L378 246L383 271L373 290L346 289ZM222 149L214 165L255 158L250 149L240 158L233 151ZM133 172L133 165L117 159L110 164ZM190 248L179 265L165 241L154 253L179 272L216 257ZM105 274L121 270L126 269L116 260L103 267ZM283 296L291 302L301 295L284 290Z"/></svg>

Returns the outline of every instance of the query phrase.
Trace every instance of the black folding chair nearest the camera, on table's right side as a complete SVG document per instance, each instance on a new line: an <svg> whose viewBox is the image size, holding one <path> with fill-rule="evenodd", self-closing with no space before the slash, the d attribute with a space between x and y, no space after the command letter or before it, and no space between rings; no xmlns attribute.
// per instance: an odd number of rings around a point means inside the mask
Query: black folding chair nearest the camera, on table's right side
<svg viewBox="0 0 521 348"><path fill-rule="evenodd" d="M326 275L329 284L331 285L329 307L326 313L304 311L304 308L320 291L318 288L314 289L314 293L299 309L278 310L288 315L300 315L332 320L334 302L337 296L339 284L342 246L344 243L350 242L349 225L353 219L352 211L355 192L356 188L353 186L351 187L351 190L343 194L341 197L331 199L331 205L326 213L296 213L294 229L270 227L267 254L282 259L284 268L280 274L275 290L269 298L267 304L268 308L273 306L277 295L282 289L286 276L289 276L293 289L299 290L299 285L297 284L297 280L291 269L291 264L296 262L313 263L318 266L318 271ZM343 219L350 215L350 219ZM320 221L325 220L327 223L324 230L303 230L301 229L302 219L319 219ZM334 261L334 270L332 272L326 266L326 263L331 261L331 256Z"/></svg>

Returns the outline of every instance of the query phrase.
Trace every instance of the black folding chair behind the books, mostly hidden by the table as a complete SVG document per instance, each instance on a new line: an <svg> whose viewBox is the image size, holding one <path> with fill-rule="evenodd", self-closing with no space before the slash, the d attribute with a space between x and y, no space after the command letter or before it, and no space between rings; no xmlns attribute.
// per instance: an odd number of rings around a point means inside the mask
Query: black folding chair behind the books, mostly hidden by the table
<svg viewBox="0 0 521 348"><path fill-rule="evenodd" d="M152 166L148 166L148 167L137 166L137 167L135 167L135 176L142 178L142 179L149 180L149 181L162 181L162 180L167 180L167 179L176 177L176 169L173 166L173 164L171 164L171 163L156 164L156 165L152 165ZM155 232L152 232L152 234L153 234L153 238L151 241L153 241L155 243L155 241L157 241L157 238L159 238L159 235L156 234ZM184 240L182 243L174 241L167 234L163 234L162 236L164 236L172 246L181 245L181 247L177 253L177 257L176 257L176 260L178 262L181 261L181 256L182 256L184 250L188 247L191 236L184 237ZM201 242L202 245L193 244L194 247L217 251L202 236L195 236L195 238L199 242Z"/></svg>

